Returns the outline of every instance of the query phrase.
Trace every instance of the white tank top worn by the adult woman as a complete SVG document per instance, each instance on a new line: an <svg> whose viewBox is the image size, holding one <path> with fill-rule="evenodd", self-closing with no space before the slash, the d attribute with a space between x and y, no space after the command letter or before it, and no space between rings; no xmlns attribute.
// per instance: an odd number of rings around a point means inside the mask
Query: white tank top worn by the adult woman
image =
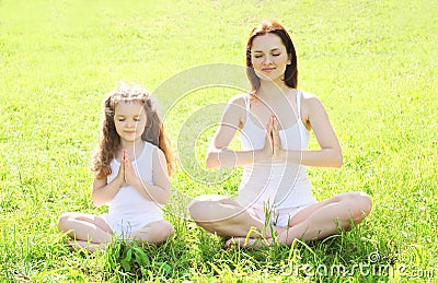
<svg viewBox="0 0 438 283"><path fill-rule="evenodd" d="M297 92L297 122L279 131L281 145L286 150L306 150L309 145L310 132L301 120L301 96ZM243 150L263 149L266 129L254 123L251 117L251 98L245 97L246 120L241 129L240 139ZM314 203L311 185L306 173L306 166L272 158L255 162L243 168L237 201L243 205L268 205L273 209L297 208Z"/></svg>

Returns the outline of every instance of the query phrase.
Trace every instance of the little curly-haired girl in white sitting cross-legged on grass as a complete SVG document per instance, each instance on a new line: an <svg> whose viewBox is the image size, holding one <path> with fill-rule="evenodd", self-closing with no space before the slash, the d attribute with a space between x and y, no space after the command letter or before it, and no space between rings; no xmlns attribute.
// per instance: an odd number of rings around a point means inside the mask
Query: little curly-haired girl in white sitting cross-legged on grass
<svg viewBox="0 0 438 283"><path fill-rule="evenodd" d="M99 149L93 156L92 199L107 204L108 214L67 212L58 221L69 244L94 249L113 235L152 244L174 234L161 207L170 197L172 156L163 125L149 93L122 84L104 103Z"/></svg>

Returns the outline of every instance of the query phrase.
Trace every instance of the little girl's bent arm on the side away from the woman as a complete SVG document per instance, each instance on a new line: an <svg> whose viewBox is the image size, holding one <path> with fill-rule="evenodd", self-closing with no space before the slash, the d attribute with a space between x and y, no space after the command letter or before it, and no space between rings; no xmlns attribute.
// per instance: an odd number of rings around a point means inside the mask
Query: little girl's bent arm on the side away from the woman
<svg viewBox="0 0 438 283"><path fill-rule="evenodd" d="M114 199L114 197L117 194L123 184L124 184L123 166L120 166L117 177L110 184L106 182L106 178L102 179L94 178L93 193L92 193L92 199L94 204L96 207L101 207L106 202L111 201L112 199Z"/></svg>

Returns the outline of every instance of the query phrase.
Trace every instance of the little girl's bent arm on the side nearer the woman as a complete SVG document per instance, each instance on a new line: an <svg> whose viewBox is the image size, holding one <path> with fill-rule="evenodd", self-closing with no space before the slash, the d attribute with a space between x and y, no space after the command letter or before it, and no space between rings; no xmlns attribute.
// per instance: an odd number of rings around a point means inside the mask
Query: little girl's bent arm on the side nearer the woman
<svg viewBox="0 0 438 283"><path fill-rule="evenodd" d="M169 179L168 163L164 153L157 149L152 156L153 185L140 179L134 170L129 157L125 163L125 180L136 188L148 200L165 204L171 194L171 181Z"/></svg>

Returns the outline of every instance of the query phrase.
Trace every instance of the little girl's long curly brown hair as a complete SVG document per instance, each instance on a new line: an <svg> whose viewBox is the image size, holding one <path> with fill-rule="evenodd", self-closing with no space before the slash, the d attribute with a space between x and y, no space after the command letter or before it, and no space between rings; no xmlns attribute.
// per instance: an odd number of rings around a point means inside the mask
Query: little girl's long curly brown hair
<svg viewBox="0 0 438 283"><path fill-rule="evenodd" d="M164 134L163 123L150 96L150 93L140 85L122 83L104 101L104 118L101 123L100 142L93 155L91 167L97 178L106 178L112 174L111 162L119 150L120 137L114 123L114 109L119 102L139 102L143 105L147 122L141 139L157 145L164 153L169 174L173 173L170 140Z"/></svg>

